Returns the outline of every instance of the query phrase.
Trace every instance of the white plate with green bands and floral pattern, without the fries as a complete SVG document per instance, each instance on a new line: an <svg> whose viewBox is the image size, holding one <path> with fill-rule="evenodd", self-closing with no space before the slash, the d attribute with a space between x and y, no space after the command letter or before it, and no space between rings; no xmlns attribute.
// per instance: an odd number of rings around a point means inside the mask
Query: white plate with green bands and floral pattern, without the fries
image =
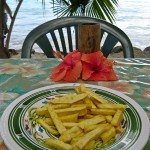
<svg viewBox="0 0 150 150"><path fill-rule="evenodd" d="M36 124L35 107L47 103L46 97L75 92L78 83L46 86L17 98L4 111L1 118L1 135L10 150L47 150L42 143L44 138L53 135ZM144 110L128 96L105 87L85 84L97 94L113 103L126 104L124 112L124 132L116 141L103 147L105 150L141 150L147 143L150 133L149 119Z"/></svg>

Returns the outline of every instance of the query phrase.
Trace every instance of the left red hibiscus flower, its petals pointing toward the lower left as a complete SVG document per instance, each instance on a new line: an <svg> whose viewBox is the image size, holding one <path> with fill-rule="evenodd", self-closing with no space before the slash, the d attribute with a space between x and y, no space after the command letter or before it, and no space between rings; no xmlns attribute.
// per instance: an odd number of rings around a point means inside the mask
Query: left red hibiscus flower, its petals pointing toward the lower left
<svg viewBox="0 0 150 150"><path fill-rule="evenodd" d="M81 53L73 51L69 53L61 64L52 69L51 79L53 81L75 82L82 71Z"/></svg>

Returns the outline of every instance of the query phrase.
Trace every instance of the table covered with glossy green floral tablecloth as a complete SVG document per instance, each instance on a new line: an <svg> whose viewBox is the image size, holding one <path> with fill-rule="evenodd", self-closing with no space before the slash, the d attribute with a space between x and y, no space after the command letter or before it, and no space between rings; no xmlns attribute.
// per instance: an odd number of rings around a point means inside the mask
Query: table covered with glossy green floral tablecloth
<svg viewBox="0 0 150 150"><path fill-rule="evenodd" d="M114 59L118 81L86 81L123 92L134 99L150 118L150 58ZM50 80L50 70L59 59L0 59L0 117L17 97L39 87L58 84ZM82 82L79 80L78 82ZM62 82L59 82L59 84ZM144 150L150 148L150 138ZM7 149L0 137L0 150Z"/></svg>

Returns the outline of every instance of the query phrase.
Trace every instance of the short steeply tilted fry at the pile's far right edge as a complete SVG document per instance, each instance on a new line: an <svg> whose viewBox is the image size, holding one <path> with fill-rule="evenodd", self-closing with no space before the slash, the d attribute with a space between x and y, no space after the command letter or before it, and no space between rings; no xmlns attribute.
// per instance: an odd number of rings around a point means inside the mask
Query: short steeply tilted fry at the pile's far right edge
<svg viewBox="0 0 150 150"><path fill-rule="evenodd" d="M111 121L111 125L113 125L113 126L119 126L119 124L121 123L122 119L123 119L123 113L122 113L121 110L118 109L116 111L116 113L115 113L112 121Z"/></svg>

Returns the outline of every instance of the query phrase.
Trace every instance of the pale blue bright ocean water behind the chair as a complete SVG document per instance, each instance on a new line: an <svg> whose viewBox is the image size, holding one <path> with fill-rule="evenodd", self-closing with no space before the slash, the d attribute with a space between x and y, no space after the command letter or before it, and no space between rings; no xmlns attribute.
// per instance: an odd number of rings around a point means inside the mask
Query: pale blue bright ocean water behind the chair
<svg viewBox="0 0 150 150"><path fill-rule="evenodd" d="M7 0L12 12L17 0ZM24 0L18 12L10 39L10 49L20 50L27 34L36 26L57 18L50 0ZM45 8L43 8L45 7ZM10 19L8 18L8 26ZM116 23L130 38L134 47L144 50L150 46L150 0L119 0Z"/></svg>

